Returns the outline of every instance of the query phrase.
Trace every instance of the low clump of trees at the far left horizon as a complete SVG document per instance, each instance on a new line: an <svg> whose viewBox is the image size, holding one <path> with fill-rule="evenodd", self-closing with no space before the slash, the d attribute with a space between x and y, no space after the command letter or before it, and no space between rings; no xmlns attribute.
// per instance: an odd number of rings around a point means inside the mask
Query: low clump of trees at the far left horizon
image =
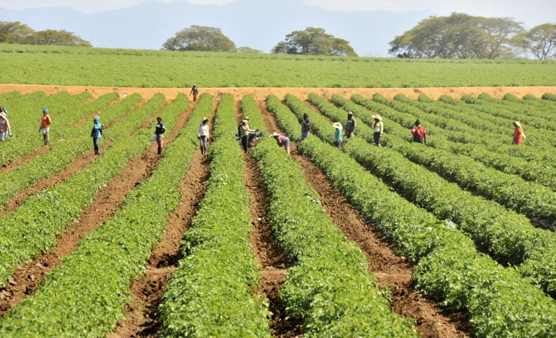
<svg viewBox="0 0 556 338"><path fill-rule="evenodd" d="M19 21L0 21L0 43L53 44L56 46L92 47L91 43L64 29L35 31Z"/></svg>

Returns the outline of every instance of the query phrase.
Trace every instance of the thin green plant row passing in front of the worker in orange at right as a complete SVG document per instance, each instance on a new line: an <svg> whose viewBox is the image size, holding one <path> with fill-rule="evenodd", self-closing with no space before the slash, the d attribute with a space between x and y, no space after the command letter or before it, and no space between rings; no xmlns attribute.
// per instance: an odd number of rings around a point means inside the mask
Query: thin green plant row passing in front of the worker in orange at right
<svg viewBox="0 0 556 338"><path fill-rule="evenodd" d="M373 95L372 100L367 100L359 94L351 96L351 100L355 103L364 105L366 108L371 110L376 109L374 108L376 104L379 107L389 107L394 111L411 114L415 118L419 118L421 123L428 128L431 128L431 124L434 124L436 127L444 129L446 138L453 142L481 144L493 152L507 154L515 158L523 158L526 160L535 160L539 162L556 160L556 157L553 157L544 150L540 151L527 144L515 147L515 145L509 144L509 142L505 142L506 139L503 139L503 142L501 142L501 138L480 133L478 130L469 127L465 123L448 119L440 115L431 114L425 112L423 109L413 107L410 104L405 104L402 102L402 100L406 99L404 95L398 94L396 95L396 98L397 100L388 100L383 95L378 93ZM413 126L413 122L411 122L411 126ZM431 134L433 133L431 132ZM511 139L511 134L508 135L508 139Z"/></svg>

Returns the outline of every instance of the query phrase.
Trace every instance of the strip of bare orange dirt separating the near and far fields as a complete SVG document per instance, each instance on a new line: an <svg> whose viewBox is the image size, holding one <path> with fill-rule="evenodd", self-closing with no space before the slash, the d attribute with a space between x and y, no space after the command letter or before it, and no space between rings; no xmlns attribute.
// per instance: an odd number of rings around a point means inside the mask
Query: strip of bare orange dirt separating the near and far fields
<svg viewBox="0 0 556 338"><path fill-rule="evenodd" d="M287 88L287 87L226 87L226 88L199 88L200 93L209 93L214 97L221 94L230 93L235 99L241 99L246 94L251 94L256 100L264 100L270 93L277 97L284 97L286 94L294 94L301 99L306 99L310 93L331 97L332 94L339 94L349 97L353 94L361 94L371 97L375 93L384 95L386 98L393 98L396 94L404 94L409 98L416 99L421 94L427 95L431 99L438 99L440 95L450 95L460 98L461 95L470 94L477 96L487 93L495 98L502 98L505 94L513 94L519 98L523 95L532 94L535 97L542 97L545 93L555 94L556 87L423 87L423 88ZM43 91L48 95L58 92L68 92L70 95L89 92L93 97L116 92L122 97L125 93L131 95L139 93L143 99L150 99L156 93L162 93L166 99L174 99L178 93L189 94L190 88L131 88L131 87L92 87L92 86L70 86L70 85L39 85L39 84L0 84L0 93L17 91L22 94Z"/></svg>

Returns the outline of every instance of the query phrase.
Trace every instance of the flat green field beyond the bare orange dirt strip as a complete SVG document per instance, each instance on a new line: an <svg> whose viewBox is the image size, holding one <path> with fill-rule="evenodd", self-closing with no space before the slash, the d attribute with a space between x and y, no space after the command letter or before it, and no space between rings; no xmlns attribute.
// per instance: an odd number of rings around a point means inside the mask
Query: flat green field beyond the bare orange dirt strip
<svg viewBox="0 0 556 338"><path fill-rule="evenodd" d="M556 61L398 59L0 44L0 83L101 87L556 85Z"/></svg>

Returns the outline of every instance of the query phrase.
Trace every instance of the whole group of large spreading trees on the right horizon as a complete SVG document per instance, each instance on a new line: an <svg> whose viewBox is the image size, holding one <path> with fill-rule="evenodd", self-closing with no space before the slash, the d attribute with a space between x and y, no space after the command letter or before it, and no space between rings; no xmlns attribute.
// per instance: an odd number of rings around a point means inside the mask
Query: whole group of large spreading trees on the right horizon
<svg viewBox="0 0 556 338"><path fill-rule="evenodd" d="M526 31L513 18L431 16L395 37L390 47L388 52L400 58L556 59L556 23Z"/></svg>

